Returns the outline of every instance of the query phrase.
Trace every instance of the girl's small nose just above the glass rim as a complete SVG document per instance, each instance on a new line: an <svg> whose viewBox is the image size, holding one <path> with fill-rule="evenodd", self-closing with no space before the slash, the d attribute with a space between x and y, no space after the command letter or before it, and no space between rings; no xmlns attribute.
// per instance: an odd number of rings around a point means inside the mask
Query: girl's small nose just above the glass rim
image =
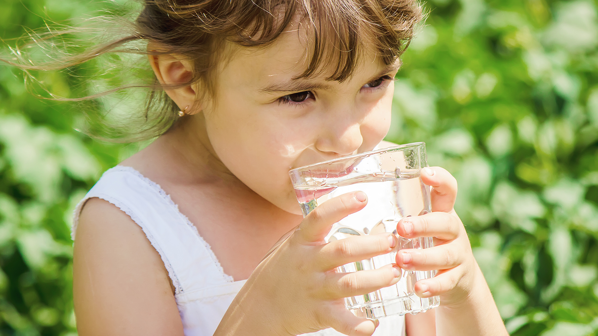
<svg viewBox="0 0 598 336"><path fill-rule="evenodd" d="M344 156L353 154L363 141L356 113L345 110L344 113L327 114L315 146L318 151Z"/></svg>

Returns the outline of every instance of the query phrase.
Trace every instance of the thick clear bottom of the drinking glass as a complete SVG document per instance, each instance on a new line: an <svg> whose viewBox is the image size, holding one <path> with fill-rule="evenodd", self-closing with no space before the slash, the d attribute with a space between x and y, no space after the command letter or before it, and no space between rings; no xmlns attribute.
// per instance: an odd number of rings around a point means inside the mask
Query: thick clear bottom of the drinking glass
<svg viewBox="0 0 598 336"><path fill-rule="evenodd" d="M438 307L440 297L420 298L416 294L408 297L385 300L384 302L370 302L361 307L353 306L350 311L355 316L367 317L368 319L380 319L391 315L404 315L407 313L423 313L428 309Z"/></svg>

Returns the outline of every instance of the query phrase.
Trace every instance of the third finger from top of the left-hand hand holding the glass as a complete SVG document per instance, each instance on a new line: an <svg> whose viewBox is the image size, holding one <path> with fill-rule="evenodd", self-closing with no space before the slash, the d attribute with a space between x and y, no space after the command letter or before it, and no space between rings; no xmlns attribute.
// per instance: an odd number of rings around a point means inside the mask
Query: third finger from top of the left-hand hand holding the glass
<svg viewBox="0 0 598 336"><path fill-rule="evenodd" d="M390 264L376 270L331 272L327 274L323 289L328 298L347 298L377 291L394 285L399 280L401 280L401 268Z"/></svg>

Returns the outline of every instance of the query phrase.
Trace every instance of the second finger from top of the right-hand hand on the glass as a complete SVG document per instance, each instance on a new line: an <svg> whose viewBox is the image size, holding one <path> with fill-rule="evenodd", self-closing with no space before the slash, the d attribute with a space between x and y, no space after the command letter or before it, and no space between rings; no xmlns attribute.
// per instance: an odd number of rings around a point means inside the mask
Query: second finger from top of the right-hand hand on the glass
<svg viewBox="0 0 598 336"><path fill-rule="evenodd" d="M431 212L421 216L409 216L396 224L396 233L401 237L437 237L451 240L459 236L463 224L457 216L447 212Z"/></svg>

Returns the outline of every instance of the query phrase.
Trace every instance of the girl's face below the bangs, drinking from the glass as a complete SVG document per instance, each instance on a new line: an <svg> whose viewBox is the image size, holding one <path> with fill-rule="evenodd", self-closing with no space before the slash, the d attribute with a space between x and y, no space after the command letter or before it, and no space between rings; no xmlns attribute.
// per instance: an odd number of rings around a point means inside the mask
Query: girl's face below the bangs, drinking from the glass
<svg viewBox="0 0 598 336"><path fill-rule="evenodd" d="M216 78L203 111L214 154L240 181L280 209L300 214L288 171L370 151L390 126L393 78L365 54L343 83L302 74L305 44L297 30L266 49L239 48Z"/></svg>

